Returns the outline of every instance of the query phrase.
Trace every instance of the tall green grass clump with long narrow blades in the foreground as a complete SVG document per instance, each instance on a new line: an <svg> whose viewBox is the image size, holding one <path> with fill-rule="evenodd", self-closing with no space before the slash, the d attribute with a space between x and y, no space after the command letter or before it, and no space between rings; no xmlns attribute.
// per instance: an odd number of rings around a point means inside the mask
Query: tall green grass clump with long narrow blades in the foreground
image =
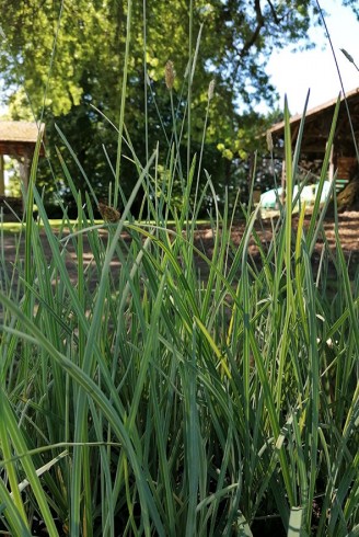
<svg viewBox="0 0 359 537"><path fill-rule="evenodd" d="M15 262L0 252L0 530L358 535L358 274L349 278L338 232L336 252L324 242L313 272L325 207L316 204L305 227L303 206L292 226L301 134L292 155L286 103L286 205L266 245L257 212L245 209L238 244L234 212L217 207L201 155L180 165L186 130L173 111L166 161L159 150L146 163L132 152L137 180L108 218L117 221L94 221L85 172L83 196L58 153L78 218L63 206L54 231L34 159ZM131 148L124 117L125 107L119 148ZM178 176L180 208L171 205ZM123 198L120 153L114 185ZM146 220L131 216L140 188ZM197 225L207 196L210 249Z"/></svg>

